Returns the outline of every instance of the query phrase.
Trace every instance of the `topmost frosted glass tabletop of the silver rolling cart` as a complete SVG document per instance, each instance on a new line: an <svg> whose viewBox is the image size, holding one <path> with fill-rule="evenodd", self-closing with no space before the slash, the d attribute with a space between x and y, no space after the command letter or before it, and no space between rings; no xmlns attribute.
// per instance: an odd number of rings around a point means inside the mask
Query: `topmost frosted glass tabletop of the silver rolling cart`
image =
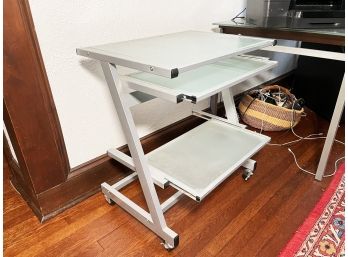
<svg viewBox="0 0 348 257"><path fill-rule="evenodd" d="M94 59L115 61L116 65L130 68L134 67L132 63L136 63L171 70L212 63L218 58L256 50L273 42L270 39L185 31L81 48L77 52Z"/></svg>

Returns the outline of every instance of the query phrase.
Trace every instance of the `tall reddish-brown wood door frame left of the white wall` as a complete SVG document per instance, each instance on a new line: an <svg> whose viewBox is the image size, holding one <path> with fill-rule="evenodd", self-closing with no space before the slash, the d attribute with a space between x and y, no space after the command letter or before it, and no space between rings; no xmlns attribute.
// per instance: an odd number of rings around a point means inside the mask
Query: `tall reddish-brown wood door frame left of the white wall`
<svg viewBox="0 0 348 257"><path fill-rule="evenodd" d="M31 174L34 192L63 182L69 161L28 1L4 2L4 106L19 166Z"/></svg>

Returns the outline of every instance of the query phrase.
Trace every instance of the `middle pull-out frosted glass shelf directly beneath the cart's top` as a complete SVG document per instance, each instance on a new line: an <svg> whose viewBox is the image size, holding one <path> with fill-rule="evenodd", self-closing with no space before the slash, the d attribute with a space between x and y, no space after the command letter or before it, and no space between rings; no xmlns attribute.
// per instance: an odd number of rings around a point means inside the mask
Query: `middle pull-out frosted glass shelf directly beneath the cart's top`
<svg viewBox="0 0 348 257"><path fill-rule="evenodd" d="M121 79L130 82L128 85L131 89L171 102L180 102L182 95L193 97L192 101L198 102L271 69L276 64L266 58L237 56L204 65L174 79L146 72L122 76Z"/></svg>

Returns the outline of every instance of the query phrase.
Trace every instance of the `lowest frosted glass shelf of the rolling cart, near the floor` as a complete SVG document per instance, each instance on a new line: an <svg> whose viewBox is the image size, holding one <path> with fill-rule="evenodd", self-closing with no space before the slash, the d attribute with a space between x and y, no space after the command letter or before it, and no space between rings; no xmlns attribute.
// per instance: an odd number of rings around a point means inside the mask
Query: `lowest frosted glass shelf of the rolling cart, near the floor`
<svg viewBox="0 0 348 257"><path fill-rule="evenodd" d="M209 120L146 156L174 187L201 201L269 140L256 132Z"/></svg>

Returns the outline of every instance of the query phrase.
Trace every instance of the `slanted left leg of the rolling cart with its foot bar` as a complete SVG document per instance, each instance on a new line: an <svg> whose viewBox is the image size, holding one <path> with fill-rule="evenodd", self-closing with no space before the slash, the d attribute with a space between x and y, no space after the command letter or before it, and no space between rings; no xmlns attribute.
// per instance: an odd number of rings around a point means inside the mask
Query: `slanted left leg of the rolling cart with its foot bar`
<svg viewBox="0 0 348 257"><path fill-rule="evenodd" d="M167 227L164 219L162 207L155 190L147 159L144 155L132 114L123 99L120 97L119 90L121 81L118 78L116 67L107 62L101 62L101 66L128 143L140 185L145 196L146 204L149 208L149 213L123 194L113 189L107 183L102 184L102 190L107 197L111 198L127 212L141 221L145 226L164 239L166 248L174 248L179 242L179 237L178 234Z"/></svg>

